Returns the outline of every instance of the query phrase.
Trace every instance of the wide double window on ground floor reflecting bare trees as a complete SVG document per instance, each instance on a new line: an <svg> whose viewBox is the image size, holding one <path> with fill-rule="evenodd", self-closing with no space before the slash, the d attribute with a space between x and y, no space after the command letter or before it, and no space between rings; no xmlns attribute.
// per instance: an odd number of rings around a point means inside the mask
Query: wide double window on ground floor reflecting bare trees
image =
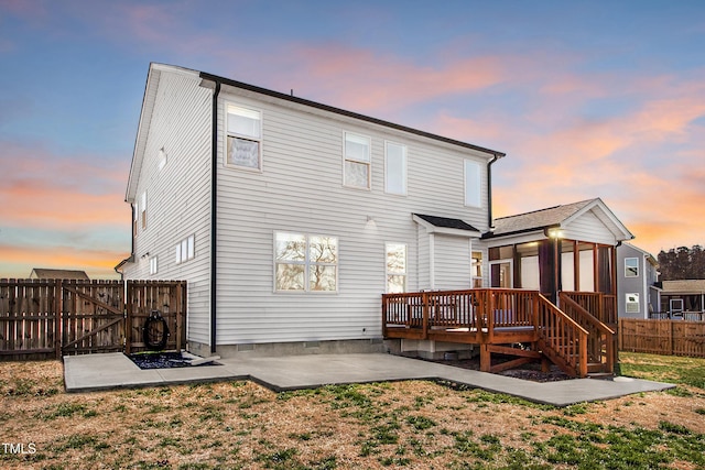
<svg viewBox="0 0 705 470"><path fill-rule="evenodd" d="M338 239L299 233L274 233L276 292L336 292Z"/></svg>

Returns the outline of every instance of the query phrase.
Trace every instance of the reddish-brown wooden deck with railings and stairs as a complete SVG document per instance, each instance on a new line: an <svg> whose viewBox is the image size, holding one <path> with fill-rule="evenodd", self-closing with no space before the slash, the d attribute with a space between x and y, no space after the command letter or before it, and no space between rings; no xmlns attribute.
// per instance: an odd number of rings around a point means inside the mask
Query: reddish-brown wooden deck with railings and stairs
<svg viewBox="0 0 705 470"><path fill-rule="evenodd" d="M479 288L384 294L383 336L478 345L480 370L486 372L539 359L544 367L551 361L574 376L611 372L614 331L571 296L564 297L566 304L572 303L571 315L535 291ZM517 359L491 365L492 353Z"/></svg>

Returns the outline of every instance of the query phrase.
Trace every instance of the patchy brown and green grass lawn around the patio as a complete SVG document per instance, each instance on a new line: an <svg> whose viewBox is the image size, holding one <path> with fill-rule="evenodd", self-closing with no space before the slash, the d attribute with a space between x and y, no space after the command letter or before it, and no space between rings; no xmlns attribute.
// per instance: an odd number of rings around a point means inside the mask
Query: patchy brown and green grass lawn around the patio
<svg viewBox="0 0 705 470"><path fill-rule="evenodd" d="M679 386L566 408L424 381L66 394L59 362L0 362L0 468L704 469L705 360L620 356Z"/></svg>

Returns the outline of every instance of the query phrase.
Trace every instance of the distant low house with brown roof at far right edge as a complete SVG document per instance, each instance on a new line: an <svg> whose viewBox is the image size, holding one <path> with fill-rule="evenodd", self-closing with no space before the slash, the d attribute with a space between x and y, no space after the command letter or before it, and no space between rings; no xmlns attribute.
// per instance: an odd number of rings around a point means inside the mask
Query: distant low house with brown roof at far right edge
<svg viewBox="0 0 705 470"><path fill-rule="evenodd" d="M705 320L705 280L663 281L661 314L668 318Z"/></svg>

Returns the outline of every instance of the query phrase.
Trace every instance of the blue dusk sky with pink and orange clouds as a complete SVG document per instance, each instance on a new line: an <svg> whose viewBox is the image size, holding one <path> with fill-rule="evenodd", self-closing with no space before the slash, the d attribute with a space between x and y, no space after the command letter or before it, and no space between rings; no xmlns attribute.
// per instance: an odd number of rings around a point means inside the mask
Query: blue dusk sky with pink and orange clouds
<svg viewBox="0 0 705 470"><path fill-rule="evenodd" d="M0 0L0 277L116 275L150 62L505 152L496 217L705 244L705 1Z"/></svg>

